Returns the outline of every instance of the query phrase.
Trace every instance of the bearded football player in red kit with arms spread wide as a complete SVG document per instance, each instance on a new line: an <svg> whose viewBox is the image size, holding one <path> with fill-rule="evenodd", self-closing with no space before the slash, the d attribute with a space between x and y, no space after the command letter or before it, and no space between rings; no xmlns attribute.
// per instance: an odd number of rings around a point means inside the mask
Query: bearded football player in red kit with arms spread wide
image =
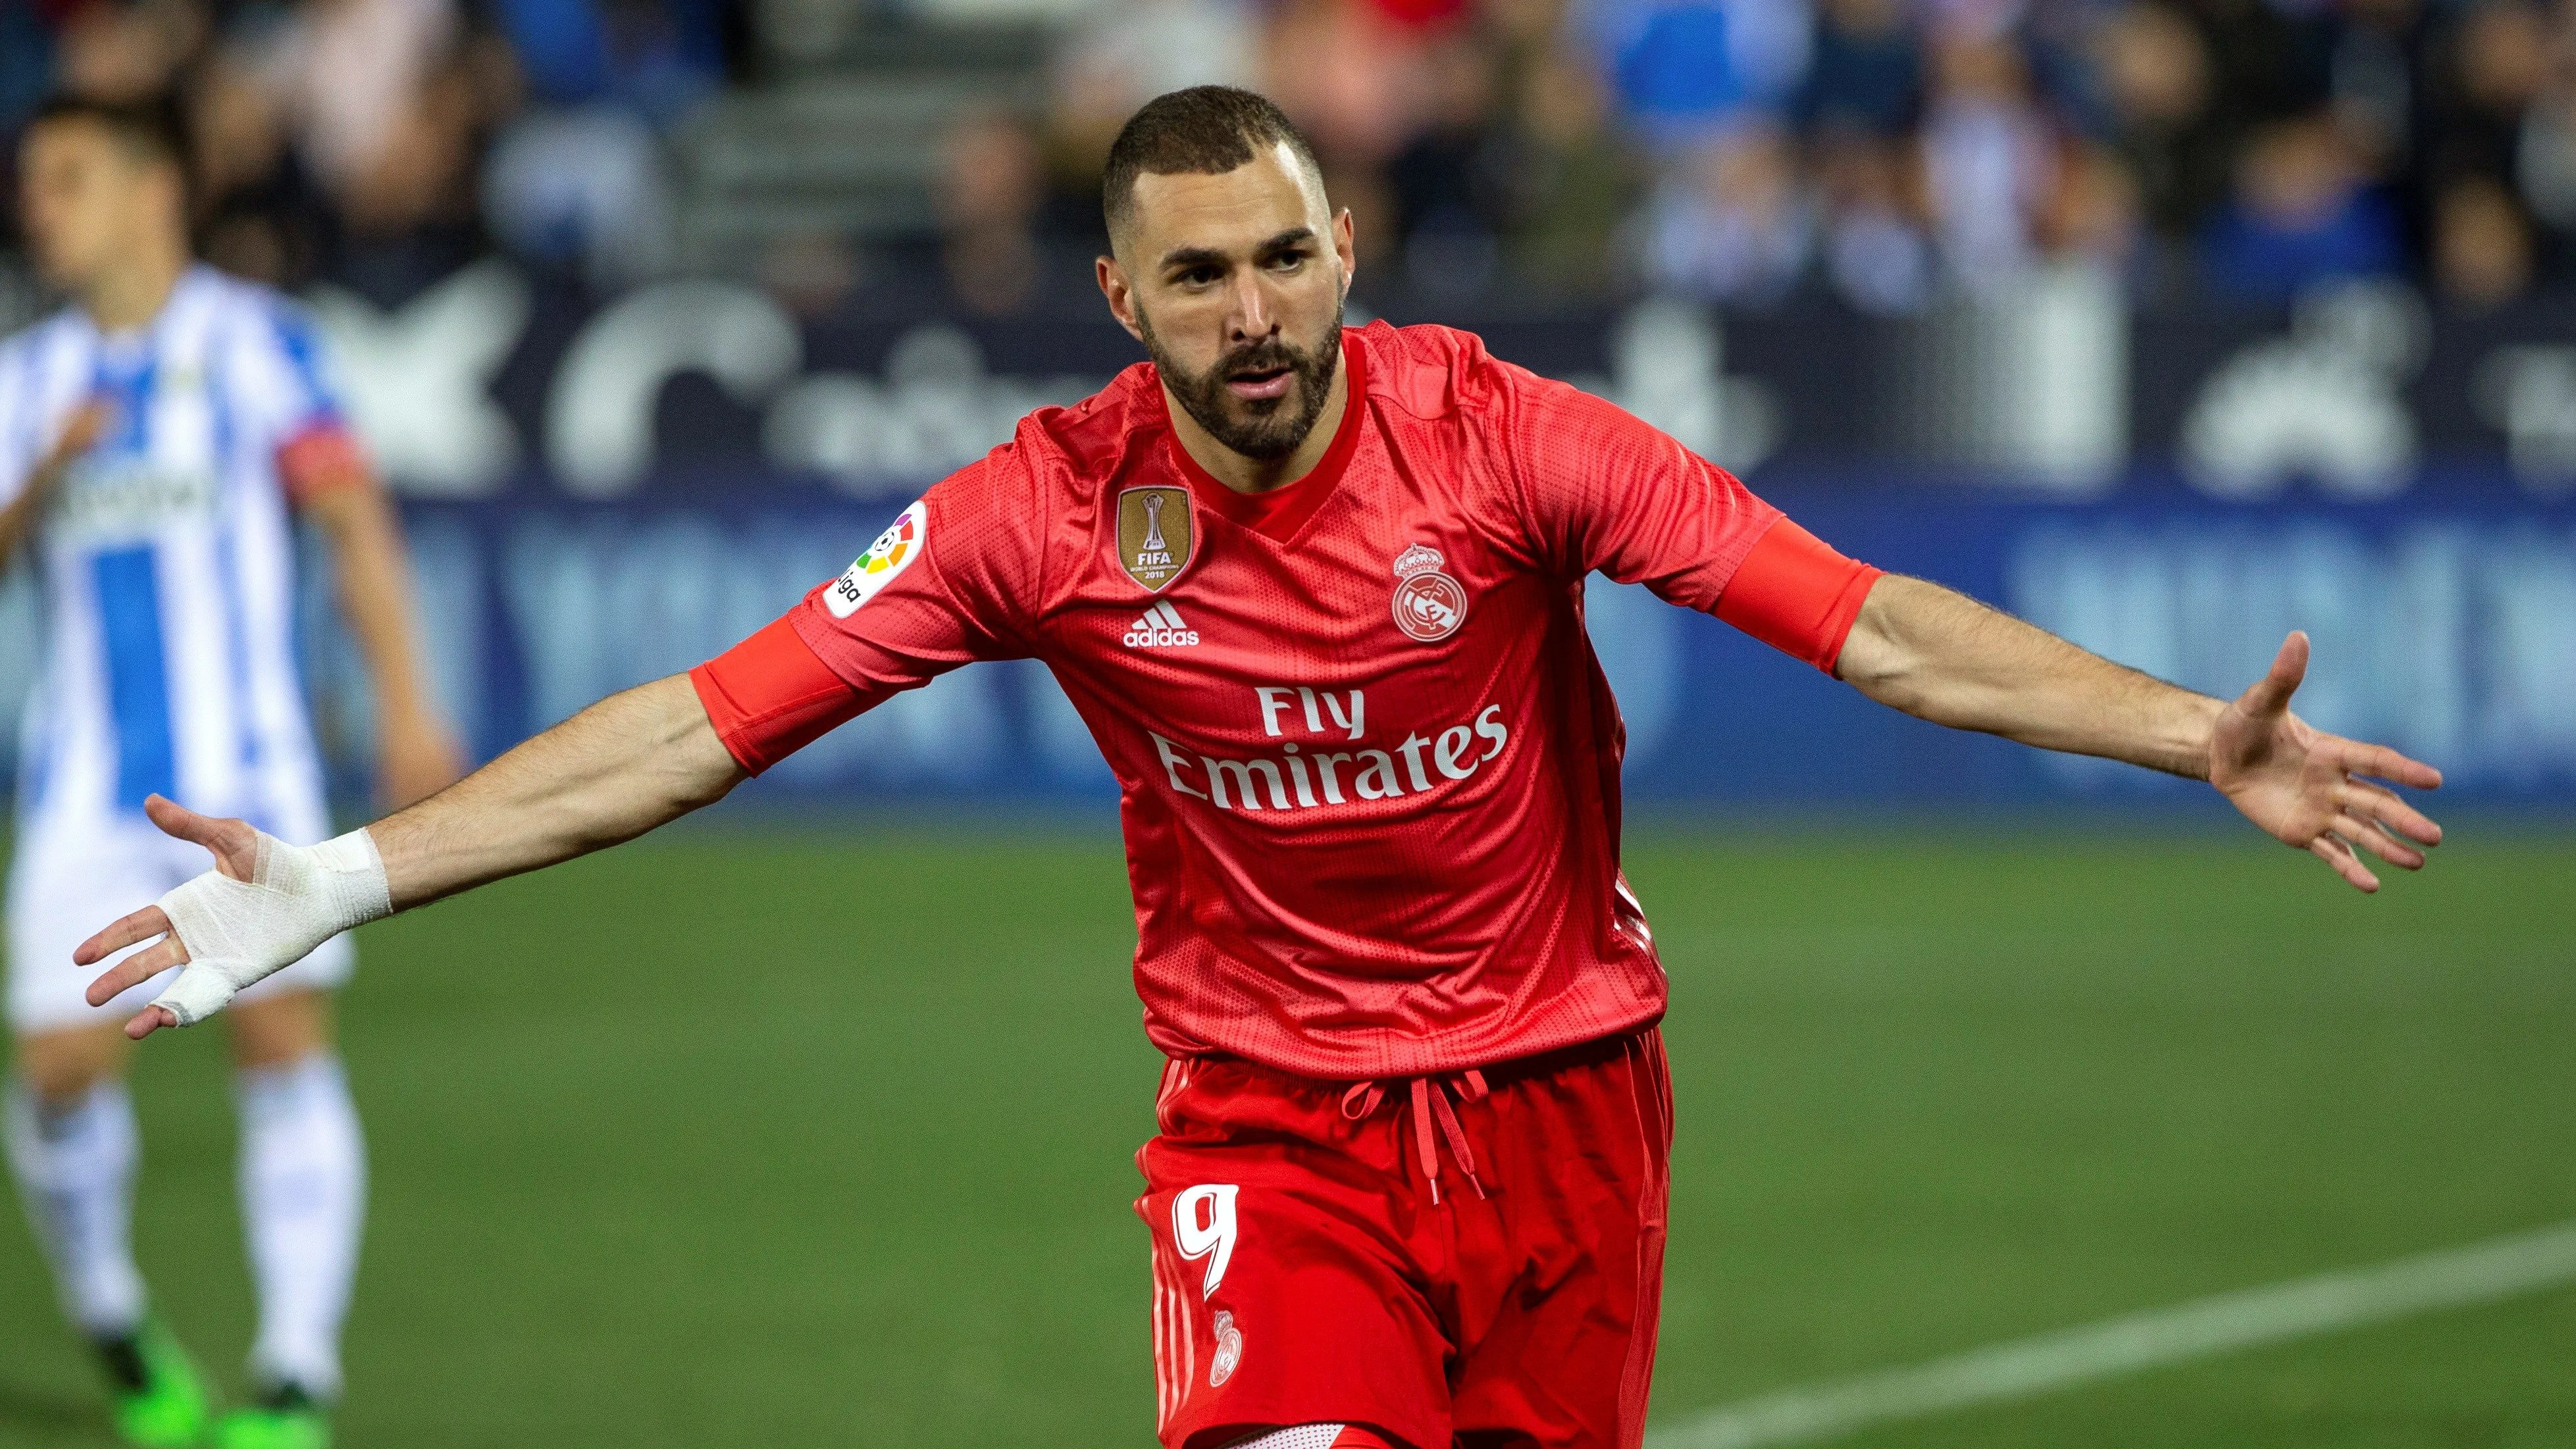
<svg viewBox="0 0 2576 1449"><path fill-rule="evenodd" d="M1842 558L1680 443L1443 327L1342 329L1350 214L1262 98L1149 103L1100 260L1151 363L1041 409L693 669L312 849L155 803L219 870L108 927L147 1035L355 921L714 803L974 659L1043 659L1118 775L1170 1058L1136 1210L1167 1449L1633 1449L1664 1259L1664 973L1618 870L1584 577L1922 718L2202 777L2360 888L2439 831L2396 752Z"/></svg>

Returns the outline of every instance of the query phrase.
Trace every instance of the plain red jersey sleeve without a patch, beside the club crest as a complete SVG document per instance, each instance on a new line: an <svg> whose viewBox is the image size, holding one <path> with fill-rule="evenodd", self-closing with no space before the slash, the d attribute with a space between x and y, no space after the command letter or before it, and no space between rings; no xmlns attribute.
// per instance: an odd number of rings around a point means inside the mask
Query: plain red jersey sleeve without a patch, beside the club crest
<svg viewBox="0 0 2576 1449"><path fill-rule="evenodd" d="M1878 569L1834 553L1734 474L1620 407L1494 363L1538 556L1713 613L1832 672Z"/></svg>

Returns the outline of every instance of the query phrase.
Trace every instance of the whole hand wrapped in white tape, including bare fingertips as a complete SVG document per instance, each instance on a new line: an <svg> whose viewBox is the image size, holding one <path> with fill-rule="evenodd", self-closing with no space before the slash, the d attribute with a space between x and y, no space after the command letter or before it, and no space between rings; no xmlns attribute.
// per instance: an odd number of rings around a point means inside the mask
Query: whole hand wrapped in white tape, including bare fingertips
<svg viewBox="0 0 2576 1449"><path fill-rule="evenodd" d="M152 795L144 813L162 834L201 844L214 870L124 916L72 952L75 965L98 965L139 945L90 983L90 1006L183 968L149 1006L126 1022L134 1040L160 1027L193 1027L224 1009L245 988L283 970L330 937L392 914L384 860L366 831L312 847L260 834L250 821L201 816Z"/></svg>

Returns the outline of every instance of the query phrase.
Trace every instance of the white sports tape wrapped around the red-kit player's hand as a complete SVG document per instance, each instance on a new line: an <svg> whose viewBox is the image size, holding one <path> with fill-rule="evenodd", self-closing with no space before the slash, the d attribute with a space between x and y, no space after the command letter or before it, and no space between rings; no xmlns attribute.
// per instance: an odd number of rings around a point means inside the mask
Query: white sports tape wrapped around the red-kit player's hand
<svg viewBox="0 0 2576 1449"><path fill-rule="evenodd" d="M394 896L366 831L322 844L286 844L263 831L250 880L209 870L162 896L160 909L188 947L188 965L152 1004L193 1027L317 945L392 916Z"/></svg>

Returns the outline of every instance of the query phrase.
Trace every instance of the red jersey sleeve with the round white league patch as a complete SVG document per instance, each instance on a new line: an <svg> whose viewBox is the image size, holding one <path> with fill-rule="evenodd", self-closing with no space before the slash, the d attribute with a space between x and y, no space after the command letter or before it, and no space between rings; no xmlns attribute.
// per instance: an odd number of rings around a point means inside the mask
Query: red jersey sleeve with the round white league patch
<svg viewBox="0 0 2576 1449"><path fill-rule="evenodd" d="M1041 528L1010 448L951 474L837 579L688 672L724 749L760 775L902 690L1028 654Z"/></svg>

